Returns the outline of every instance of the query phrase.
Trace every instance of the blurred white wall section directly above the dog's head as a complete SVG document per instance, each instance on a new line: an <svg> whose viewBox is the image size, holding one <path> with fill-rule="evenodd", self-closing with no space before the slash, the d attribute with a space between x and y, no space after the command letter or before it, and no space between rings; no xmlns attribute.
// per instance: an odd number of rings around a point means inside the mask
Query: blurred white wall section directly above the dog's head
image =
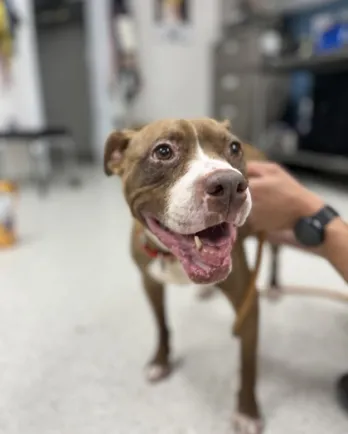
<svg viewBox="0 0 348 434"><path fill-rule="evenodd" d="M210 114L211 49L220 28L220 0L189 0L192 38L186 44L160 40L154 30L154 0L133 0L140 43L144 88L133 118L151 121L163 117Z"/></svg>

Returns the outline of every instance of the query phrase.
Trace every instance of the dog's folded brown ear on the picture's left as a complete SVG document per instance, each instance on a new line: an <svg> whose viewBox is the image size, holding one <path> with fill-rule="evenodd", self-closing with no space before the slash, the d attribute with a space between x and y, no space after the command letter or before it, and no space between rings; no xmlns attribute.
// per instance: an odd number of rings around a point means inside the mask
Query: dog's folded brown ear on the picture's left
<svg viewBox="0 0 348 434"><path fill-rule="evenodd" d="M122 175L124 153L134 136L132 130L113 131L108 137L104 151L104 171L106 175Z"/></svg>

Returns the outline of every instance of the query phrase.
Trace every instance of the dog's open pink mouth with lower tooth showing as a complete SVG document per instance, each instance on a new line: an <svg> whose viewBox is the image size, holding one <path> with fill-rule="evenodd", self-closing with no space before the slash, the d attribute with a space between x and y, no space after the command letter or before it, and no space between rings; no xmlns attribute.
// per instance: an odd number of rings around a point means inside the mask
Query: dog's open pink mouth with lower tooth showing
<svg viewBox="0 0 348 434"><path fill-rule="evenodd" d="M151 232L180 260L193 282L216 283L226 279L237 238L233 223L223 222L193 234L180 234L155 218L148 217L146 221Z"/></svg>

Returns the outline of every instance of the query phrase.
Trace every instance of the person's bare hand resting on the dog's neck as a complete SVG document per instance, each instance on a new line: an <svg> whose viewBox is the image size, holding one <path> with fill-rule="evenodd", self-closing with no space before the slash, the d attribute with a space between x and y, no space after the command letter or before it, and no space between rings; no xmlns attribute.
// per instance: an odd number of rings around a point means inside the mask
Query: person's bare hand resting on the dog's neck
<svg viewBox="0 0 348 434"><path fill-rule="evenodd" d="M320 197L275 163L250 162L247 173L253 200L249 221L256 231L292 229L300 217L324 206Z"/></svg>

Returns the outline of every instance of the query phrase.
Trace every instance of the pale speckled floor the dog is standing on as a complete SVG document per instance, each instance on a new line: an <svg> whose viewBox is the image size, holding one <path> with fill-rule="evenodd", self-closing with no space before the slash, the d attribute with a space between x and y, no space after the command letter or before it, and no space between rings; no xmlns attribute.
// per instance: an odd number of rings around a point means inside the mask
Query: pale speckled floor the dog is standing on
<svg viewBox="0 0 348 434"><path fill-rule="evenodd" d="M347 195L320 191L348 218ZM191 288L170 288L182 364L163 384L143 381L154 329L128 255L130 220L119 182L95 172L81 190L56 188L45 200L25 191L19 218L22 242L0 253L0 433L230 432L238 345L219 296L203 303ZM347 291L318 258L286 250L282 263L285 283ZM348 306L263 300L259 395L266 434L347 433L348 417L334 396L343 371Z"/></svg>

